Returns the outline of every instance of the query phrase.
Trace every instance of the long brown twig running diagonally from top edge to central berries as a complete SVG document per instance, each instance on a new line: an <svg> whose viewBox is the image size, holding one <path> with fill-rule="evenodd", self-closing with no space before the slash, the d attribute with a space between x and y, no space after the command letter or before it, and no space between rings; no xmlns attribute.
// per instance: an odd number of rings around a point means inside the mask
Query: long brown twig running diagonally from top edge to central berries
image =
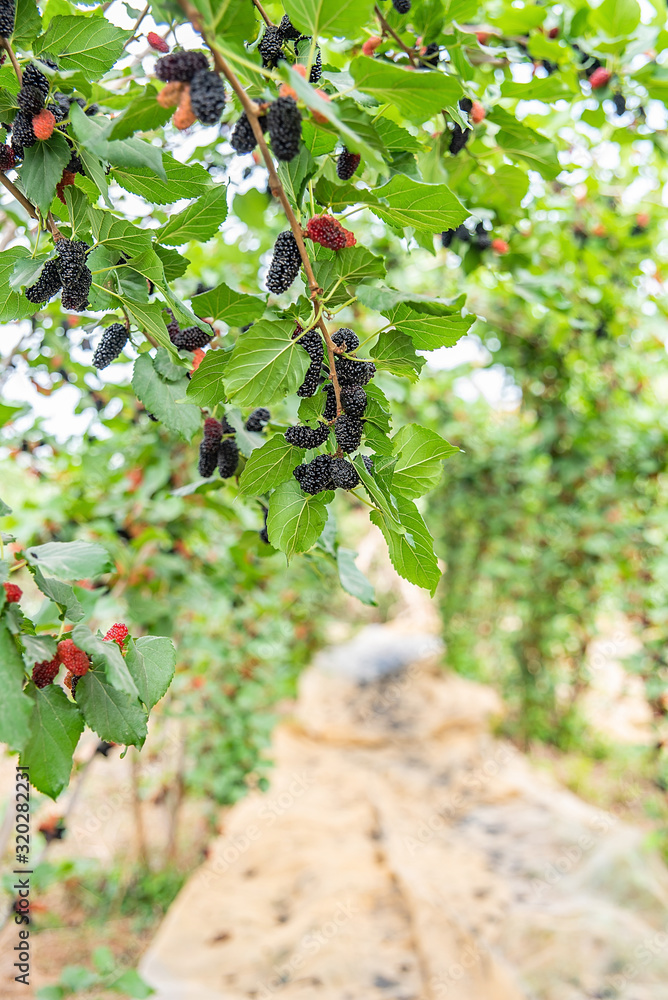
<svg viewBox="0 0 668 1000"><path fill-rule="evenodd" d="M304 271L306 273L306 279L308 282L311 300L317 306L319 303L320 295L322 293L322 289L320 288L318 282L315 279L315 275L313 273L313 267L306 250L306 245L304 243L304 237L302 234L301 226L297 222L297 217L295 216L295 213L292 210L292 205L290 204L288 196L285 193L285 188L281 184L279 176L276 173L276 167L274 166L274 161L272 159L271 153L269 152L269 147L267 146L267 143L265 141L264 132L262 131L262 127L258 121L258 114L261 113L260 109L258 108L258 105L255 104L254 101L251 101L250 97L242 87L239 78L237 77L236 73L234 72L230 64L221 55L221 53L216 48L215 44L207 38L206 33L202 28L199 19L199 13L195 9L195 7L193 7L192 3L190 3L190 0L179 0L179 5L183 10L184 14L186 15L186 17L188 18L188 20L191 22L195 31L197 31L202 36L203 40L208 45L209 49L211 50L211 54L213 55L213 61L216 66L216 69L218 70L219 73L222 73L223 76L227 79L230 86L232 87L232 90L239 98L239 102L241 103L242 108L246 112L246 117L250 122L251 128L253 130L253 135L255 136L255 140L258 146L260 147L260 152L262 153L262 157L264 159L267 171L269 173L269 190L271 191L274 198L278 198L281 205L283 206L283 211L285 212L288 222L290 223L290 228L295 238L297 249L299 250L299 256L301 257L302 264L304 265ZM338 416L342 412L342 407L341 407L341 389L339 386L339 380L336 375L336 367L334 365L334 356L336 353L335 345L334 342L332 341L332 338L329 335L329 330L325 325L325 321L321 318L317 325L320 328L320 331L324 337L325 346L327 348L330 377L332 379L332 385L334 386L334 396L336 398L336 413Z"/></svg>

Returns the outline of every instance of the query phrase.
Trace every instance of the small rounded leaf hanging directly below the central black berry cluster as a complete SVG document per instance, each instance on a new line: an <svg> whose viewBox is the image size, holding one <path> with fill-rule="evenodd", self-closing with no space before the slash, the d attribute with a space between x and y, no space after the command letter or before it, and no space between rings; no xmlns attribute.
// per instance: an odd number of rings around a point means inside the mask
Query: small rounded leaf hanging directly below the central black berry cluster
<svg viewBox="0 0 668 1000"><path fill-rule="evenodd" d="M326 494L306 496L295 479L281 483L269 498L267 532L275 549L288 560L314 545L327 520Z"/></svg>

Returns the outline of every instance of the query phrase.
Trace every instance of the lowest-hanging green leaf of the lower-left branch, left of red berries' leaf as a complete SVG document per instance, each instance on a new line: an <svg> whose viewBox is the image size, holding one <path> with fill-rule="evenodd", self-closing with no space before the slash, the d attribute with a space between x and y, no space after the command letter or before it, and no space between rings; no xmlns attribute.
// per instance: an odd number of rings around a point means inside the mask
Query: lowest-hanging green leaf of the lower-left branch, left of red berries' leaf
<svg viewBox="0 0 668 1000"><path fill-rule="evenodd" d="M56 799L70 780L72 754L84 728L81 713L57 684L28 685L33 702L30 739L21 766L30 770L30 784Z"/></svg>

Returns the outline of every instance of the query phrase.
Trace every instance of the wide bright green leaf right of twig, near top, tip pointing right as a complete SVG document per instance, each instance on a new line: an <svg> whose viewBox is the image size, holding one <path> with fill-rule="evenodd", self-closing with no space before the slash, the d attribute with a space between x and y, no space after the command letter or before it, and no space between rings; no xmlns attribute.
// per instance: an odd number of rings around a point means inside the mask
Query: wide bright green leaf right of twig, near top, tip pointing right
<svg viewBox="0 0 668 1000"><path fill-rule="evenodd" d="M359 56L350 64L357 87L375 97L379 104L390 104L402 115L422 124L448 104L463 96L454 76L422 70L402 69L392 63Z"/></svg>

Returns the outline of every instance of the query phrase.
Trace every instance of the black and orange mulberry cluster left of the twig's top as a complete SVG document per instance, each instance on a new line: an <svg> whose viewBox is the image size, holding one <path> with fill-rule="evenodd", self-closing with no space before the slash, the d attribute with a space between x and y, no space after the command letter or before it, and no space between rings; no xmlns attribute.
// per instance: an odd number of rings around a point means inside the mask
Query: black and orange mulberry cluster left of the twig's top
<svg viewBox="0 0 668 1000"><path fill-rule="evenodd" d="M159 36L155 38L165 45ZM176 128L190 128L197 119L203 125L220 121L225 110L225 86L220 76L209 69L203 52L184 49L169 52L158 59L155 74L166 84L158 94L158 104L163 108L176 106L172 118Z"/></svg>

